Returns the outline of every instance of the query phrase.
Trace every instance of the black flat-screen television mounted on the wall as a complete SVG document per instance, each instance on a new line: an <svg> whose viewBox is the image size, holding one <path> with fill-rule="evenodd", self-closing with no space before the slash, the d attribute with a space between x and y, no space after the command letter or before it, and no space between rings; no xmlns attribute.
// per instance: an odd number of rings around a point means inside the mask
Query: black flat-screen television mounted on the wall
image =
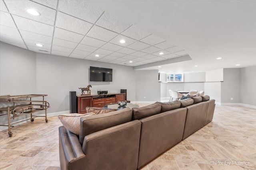
<svg viewBox="0 0 256 170"><path fill-rule="evenodd" d="M112 82L112 69L90 66L90 82Z"/></svg>

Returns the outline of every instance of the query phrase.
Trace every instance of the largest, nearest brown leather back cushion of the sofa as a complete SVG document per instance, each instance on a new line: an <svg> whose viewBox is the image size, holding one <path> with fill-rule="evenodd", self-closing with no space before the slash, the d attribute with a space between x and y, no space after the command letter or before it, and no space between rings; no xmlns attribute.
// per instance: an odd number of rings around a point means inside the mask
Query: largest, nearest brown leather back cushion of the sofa
<svg viewBox="0 0 256 170"><path fill-rule="evenodd" d="M132 120L132 109L129 107L80 119L79 141L82 144L84 137L91 133L120 125Z"/></svg>

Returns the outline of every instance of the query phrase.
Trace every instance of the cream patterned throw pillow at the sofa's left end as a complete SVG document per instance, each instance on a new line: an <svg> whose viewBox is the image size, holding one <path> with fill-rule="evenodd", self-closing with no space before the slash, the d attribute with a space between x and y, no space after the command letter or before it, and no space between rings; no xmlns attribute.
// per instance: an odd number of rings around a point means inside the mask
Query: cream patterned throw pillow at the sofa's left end
<svg viewBox="0 0 256 170"><path fill-rule="evenodd" d="M90 115L95 115L95 113L86 113L86 114L79 114L79 113L70 113L66 115L58 115L60 122L62 125L70 132L79 135L80 130L80 118L86 117Z"/></svg>

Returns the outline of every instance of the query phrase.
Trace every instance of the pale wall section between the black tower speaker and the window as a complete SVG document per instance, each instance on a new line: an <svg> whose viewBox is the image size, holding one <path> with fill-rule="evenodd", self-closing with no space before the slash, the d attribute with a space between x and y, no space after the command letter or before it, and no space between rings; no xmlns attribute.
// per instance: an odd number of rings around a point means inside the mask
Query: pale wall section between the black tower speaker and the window
<svg viewBox="0 0 256 170"><path fill-rule="evenodd" d="M135 72L136 101L160 101L158 70L136 70Z"/></svg>

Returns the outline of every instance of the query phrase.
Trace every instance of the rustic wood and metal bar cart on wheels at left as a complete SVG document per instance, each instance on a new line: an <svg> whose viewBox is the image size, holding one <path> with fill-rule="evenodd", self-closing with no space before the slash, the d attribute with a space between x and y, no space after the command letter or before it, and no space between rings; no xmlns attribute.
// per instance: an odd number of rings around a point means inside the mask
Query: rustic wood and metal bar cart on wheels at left
<svg viewBox="0 0 256 170"><path fill-rule="evenodd" d="M8 125L0 125L0 126L8 126L8 135L12 137L11 127L14 127L14 124L20 123L22 121L34 121L35 117L45 117L46 123L48 122L47 119L47 109L50 107L50 104L44 100L44 97L47 94L28 94L28 95L17 95L17 96L0 96L0 103L7 103L8 107L0 108L0 116L8 115ZM32 98L42 97L42 100L32 100ZM10 104L12 103L12 106ZM24 103L24 104L23 104ZM45 111L45 116L42 115L33 115L38 111ZM16 117L29 115L30 118L21 120L18 122L11 123L11 119Z"/></svg>

